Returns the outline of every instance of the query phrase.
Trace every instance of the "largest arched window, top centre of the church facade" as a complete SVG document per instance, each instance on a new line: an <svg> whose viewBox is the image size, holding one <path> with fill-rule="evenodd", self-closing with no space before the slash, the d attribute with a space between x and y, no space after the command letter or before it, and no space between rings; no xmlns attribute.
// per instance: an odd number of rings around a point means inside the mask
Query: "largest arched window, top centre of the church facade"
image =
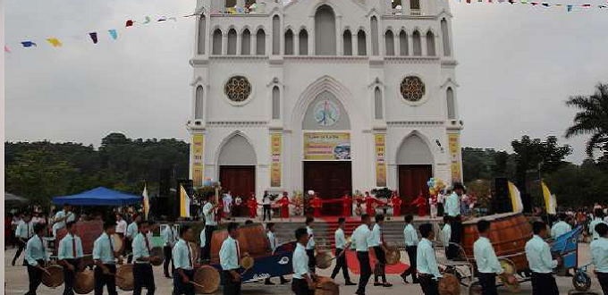
<svg viewBox="0 0 608 295"><path fill-rule="evenodd" d="M335 15L329 5L315 13L315 55L335 55Z"/></svg>

